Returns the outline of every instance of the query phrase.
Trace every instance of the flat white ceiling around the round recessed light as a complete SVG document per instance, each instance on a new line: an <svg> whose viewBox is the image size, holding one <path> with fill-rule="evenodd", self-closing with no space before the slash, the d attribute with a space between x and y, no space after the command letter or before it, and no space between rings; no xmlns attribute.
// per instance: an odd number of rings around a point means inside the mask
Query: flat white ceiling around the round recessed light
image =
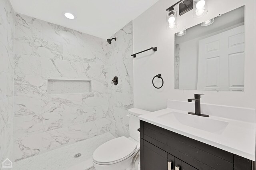
<svg viewBox="0 0 256 170"><path fill-rule="evenodd" d="M100 38L110 38L158 0L10 0L18 13L72 28ZM72 12L75 20L64 17Z"/></svg>

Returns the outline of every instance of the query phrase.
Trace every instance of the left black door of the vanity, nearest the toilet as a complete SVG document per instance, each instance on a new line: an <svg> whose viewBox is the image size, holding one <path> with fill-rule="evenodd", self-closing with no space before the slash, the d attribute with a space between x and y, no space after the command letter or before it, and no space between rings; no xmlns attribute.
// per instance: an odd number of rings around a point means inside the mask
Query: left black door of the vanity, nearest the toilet
<svg viewBox="0 0 256 170"><path fill-rule="evenodd" d="M144 170L168 170L167 152L144 142Z"/></svg>

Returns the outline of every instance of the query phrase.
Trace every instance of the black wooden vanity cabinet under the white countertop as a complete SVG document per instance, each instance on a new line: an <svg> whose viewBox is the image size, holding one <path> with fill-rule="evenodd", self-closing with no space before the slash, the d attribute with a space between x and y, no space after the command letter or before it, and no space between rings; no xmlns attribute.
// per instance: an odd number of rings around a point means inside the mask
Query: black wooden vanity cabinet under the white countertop
<svg viewBox="0 0 256 170"><path fill-rule="evenodd" d="M141 170L252 170L252 161L140 121Z"/></svg>

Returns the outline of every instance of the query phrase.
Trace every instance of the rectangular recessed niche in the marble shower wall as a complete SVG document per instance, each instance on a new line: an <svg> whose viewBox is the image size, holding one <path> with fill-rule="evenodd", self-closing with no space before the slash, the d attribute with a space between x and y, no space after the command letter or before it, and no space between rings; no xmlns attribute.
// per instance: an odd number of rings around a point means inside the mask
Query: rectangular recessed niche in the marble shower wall
<svg viewBox="0 0 256 170"><path fill-rule="evenodd" d="M48 79L48 94L72 94L91 92L91 80Z"/></svg>

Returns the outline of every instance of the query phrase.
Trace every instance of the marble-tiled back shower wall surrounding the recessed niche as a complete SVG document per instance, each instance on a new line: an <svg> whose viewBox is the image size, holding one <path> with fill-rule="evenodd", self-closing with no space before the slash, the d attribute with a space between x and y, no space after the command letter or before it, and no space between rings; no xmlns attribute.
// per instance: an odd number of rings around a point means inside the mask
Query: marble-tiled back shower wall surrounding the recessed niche
<svg viewBox="0 0 256 170"><path fill-rule="evenodd" d="M16 14L16 161L110 131L106 51L106 40ZM48 79L91 80L92 91L49 95Z"/></svg>

